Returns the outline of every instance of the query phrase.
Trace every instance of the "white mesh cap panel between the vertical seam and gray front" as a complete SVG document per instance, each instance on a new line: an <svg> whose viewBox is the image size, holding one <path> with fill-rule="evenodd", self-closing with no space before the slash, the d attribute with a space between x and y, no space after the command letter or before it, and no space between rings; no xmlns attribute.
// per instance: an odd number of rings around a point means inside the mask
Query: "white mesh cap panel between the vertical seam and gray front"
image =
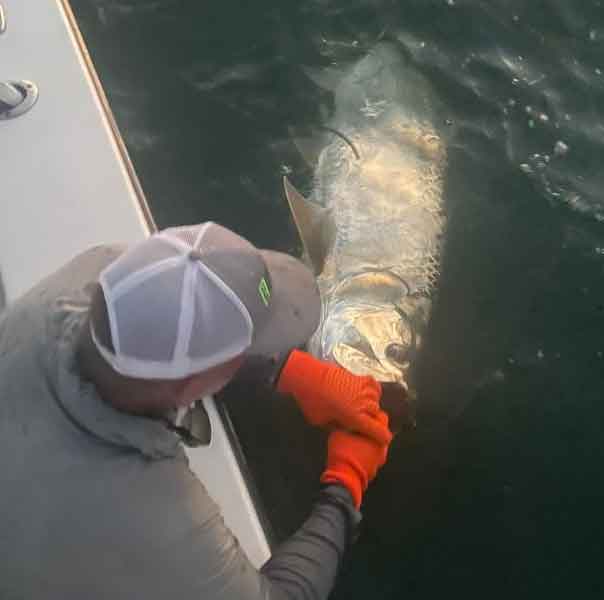
<svg viewBox="0 0 604 600"><path fill-rule="evenodd" d="M195 266L199 273L188 354L193 364L214 366L249 347L253 326L238 298L203 265Z"/></svg>

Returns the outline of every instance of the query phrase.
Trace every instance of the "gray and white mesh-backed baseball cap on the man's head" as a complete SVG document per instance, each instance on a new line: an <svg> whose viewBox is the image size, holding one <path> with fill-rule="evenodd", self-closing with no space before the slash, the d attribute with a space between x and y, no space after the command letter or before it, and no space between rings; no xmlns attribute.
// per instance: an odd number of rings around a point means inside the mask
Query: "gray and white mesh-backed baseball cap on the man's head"
<svg viewBox="0 0 604 600"><path fill-rule="evenodd" d="M299 260L259 250L213 222L173 227L131 246L100 274L122 375L181 379L245 353L273 356L318 326L320 297Z"/></svg>

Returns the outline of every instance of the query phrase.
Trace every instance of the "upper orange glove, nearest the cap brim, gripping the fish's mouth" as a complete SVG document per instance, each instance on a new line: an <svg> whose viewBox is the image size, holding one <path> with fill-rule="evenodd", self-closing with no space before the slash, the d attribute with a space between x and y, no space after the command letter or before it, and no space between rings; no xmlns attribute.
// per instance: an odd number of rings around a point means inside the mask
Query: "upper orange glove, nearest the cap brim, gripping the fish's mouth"
<svg viewBox="0 0 604 600"><path fill-rule="evenodd" d="M392 439L388 424L377 418L382 388L373 377L353 375L293 350L279 376L277 391L292 394L311 425L333 424L380 444Z"/></svg>

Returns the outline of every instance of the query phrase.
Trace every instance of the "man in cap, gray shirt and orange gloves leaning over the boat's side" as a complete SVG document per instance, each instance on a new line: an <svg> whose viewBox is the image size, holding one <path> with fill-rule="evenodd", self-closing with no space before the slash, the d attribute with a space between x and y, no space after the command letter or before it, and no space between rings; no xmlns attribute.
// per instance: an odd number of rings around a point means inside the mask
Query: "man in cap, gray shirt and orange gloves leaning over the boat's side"
<svg viewBox="0 0 604 600"><path fill-rule="evenodd" d="M378 383L294 349L318 315L303 265L214 223L93 248L5 309L0 597L326 598L392 434ZM170 427L254 357L334 428L310 517L260 571Z"/></svg>

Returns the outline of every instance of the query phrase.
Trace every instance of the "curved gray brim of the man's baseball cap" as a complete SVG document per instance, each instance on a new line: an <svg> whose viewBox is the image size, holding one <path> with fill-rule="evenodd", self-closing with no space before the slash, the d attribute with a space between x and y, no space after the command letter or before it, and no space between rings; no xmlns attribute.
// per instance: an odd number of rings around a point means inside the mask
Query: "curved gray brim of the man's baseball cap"
<svg viewBox="0 0 604 600"><path fill-rule="evenodd" d="M260 253L271 278L271 315L246 354L279 356L308 342L319 326L321 297L312 271L298 259L271 250Z"/></svg>

